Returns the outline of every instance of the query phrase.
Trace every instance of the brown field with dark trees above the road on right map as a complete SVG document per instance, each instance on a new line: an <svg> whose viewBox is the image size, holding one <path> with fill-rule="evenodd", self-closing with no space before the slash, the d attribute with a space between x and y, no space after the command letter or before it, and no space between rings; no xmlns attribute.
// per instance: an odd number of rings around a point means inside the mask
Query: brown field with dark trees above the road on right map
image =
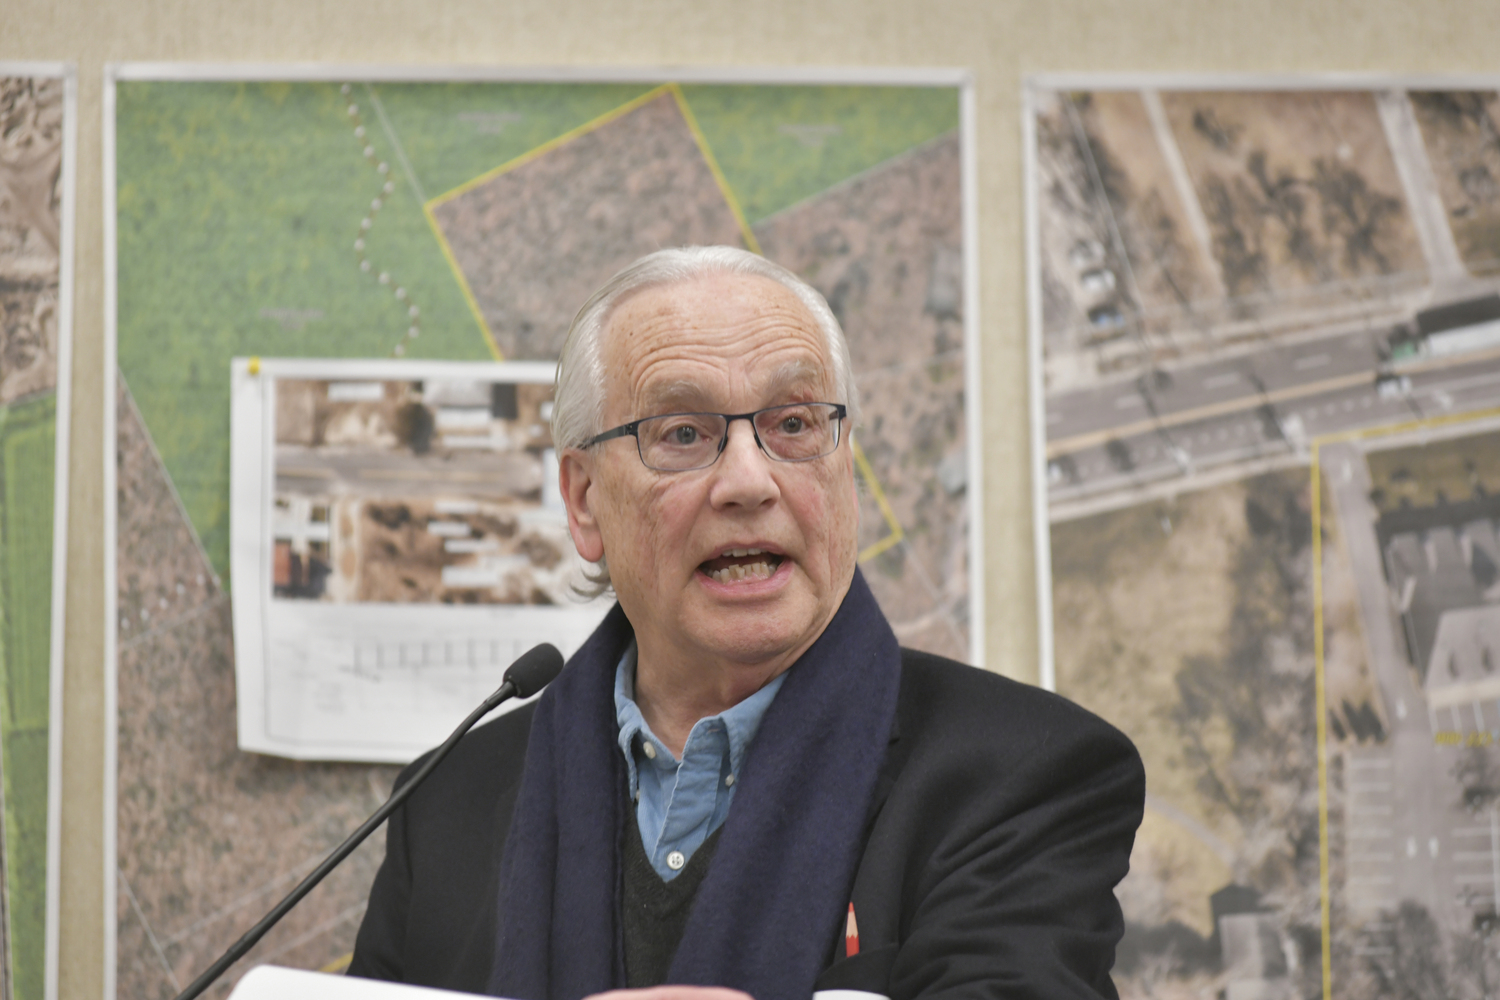
<svg viewBox="0 0 1500 1000"><path fill-rule="evenodd" d="M1050 388L1298 330L1425 282L1371 93L1040 100Z"/></svg>

